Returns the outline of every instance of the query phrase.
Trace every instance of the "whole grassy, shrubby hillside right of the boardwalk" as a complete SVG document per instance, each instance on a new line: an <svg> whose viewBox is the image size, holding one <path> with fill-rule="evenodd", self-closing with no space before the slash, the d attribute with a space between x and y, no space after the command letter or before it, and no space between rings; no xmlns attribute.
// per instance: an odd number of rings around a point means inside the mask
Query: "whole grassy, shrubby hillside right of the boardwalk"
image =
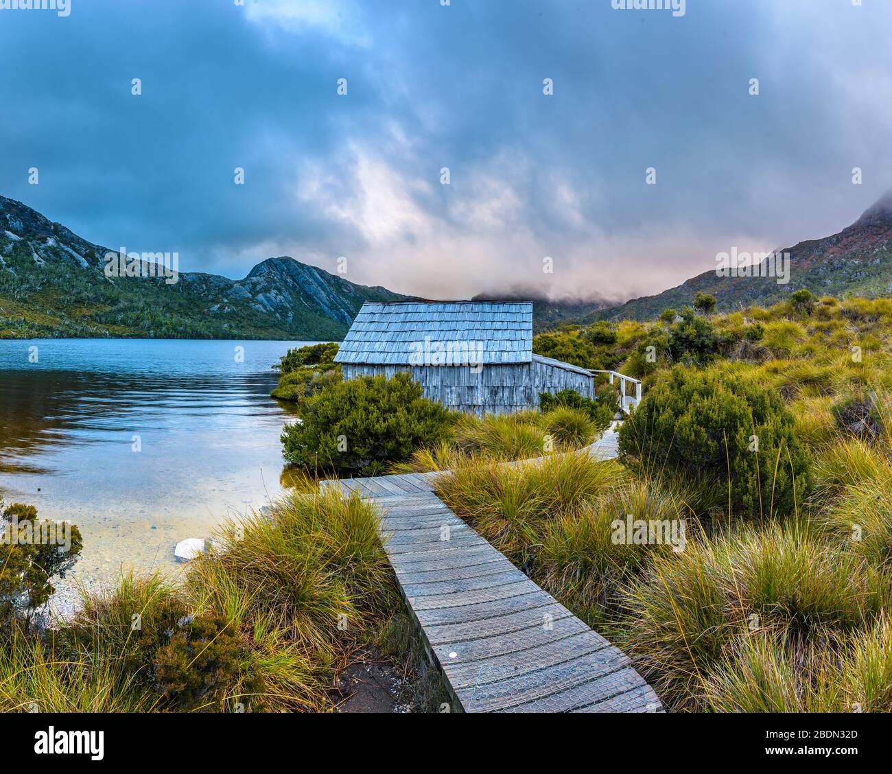
<svg viewBox="0 0 892 774"><path fill-rule="evenodd" d="M670 710L890 712L892 301L699 306L537 337L644 378L621 460L473 460L438 492Z"/></svg>

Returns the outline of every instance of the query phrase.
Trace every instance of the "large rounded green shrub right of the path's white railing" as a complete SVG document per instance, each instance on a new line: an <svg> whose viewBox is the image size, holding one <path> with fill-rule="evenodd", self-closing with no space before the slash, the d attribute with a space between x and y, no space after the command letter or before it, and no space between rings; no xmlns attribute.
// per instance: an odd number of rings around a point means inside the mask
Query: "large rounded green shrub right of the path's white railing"
<svg viewBox="0 0 892 774"><path fill-rule="evenodd" d="M809 459L777 395L745 380L676 366L619 434L630 465L722 481L744 516L792 512L809 493Z"/></svg>

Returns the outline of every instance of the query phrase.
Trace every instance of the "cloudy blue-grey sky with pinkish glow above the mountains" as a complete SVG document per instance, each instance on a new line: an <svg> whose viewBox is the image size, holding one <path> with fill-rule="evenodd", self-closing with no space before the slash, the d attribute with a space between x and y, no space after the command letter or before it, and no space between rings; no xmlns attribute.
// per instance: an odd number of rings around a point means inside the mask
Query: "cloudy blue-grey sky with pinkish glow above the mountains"
<svg viewBox="0 0 892 774"><path fill-rule="evenodd" d="M0 10L0 193L185 271L625 300L892 187L888 0L237 2Z"/></svg>

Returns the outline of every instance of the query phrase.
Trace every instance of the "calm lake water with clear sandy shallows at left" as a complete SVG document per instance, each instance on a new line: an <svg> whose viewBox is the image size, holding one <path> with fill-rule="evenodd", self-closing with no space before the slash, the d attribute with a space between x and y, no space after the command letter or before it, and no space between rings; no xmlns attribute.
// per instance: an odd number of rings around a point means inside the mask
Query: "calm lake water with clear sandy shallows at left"
<svg viewBox="0 0 892 774"><path fill-rule="evenodd" d="M79 580L169 568L281 494L270 366L305 343L0 341L0 494L78 524Z"/></svg>

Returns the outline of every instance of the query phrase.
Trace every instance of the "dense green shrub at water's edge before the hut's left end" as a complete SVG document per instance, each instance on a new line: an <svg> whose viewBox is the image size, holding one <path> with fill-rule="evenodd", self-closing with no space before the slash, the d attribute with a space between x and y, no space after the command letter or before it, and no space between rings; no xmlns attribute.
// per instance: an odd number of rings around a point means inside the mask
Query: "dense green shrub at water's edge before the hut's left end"
<svg viewBox="0 0 892 774"><path fill-rule="evenodd" d="M284 457L309 470L376 475L436 444L452 422L408 374L363 376L302 401L301 418L282 432Z"/></svg>

